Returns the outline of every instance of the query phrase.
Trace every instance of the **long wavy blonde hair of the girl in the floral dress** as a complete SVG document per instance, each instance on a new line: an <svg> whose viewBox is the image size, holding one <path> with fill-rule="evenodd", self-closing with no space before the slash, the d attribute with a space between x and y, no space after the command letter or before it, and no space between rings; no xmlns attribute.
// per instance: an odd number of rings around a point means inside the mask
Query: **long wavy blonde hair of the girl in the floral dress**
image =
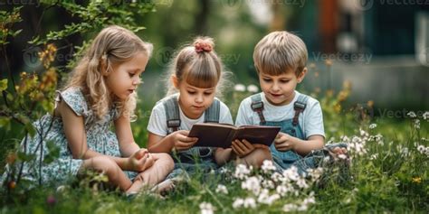
<svg viewBox="0 0 429 214"><path fill-rule="evenodd" d="M71 78L65 88L81 88L84 96L88 98L90 107L100 119L105 116L110 107L116 104L121 116L135 117L137 94L134 93L126 100L110 98L110 90L106 85L105 72L111 72L113 65L126 62L138 52L145 53L148 58L153 50L152 44L143 42L138 36L117 25L104 28L92 41L90 48L78 62L71 73Z"/></svg>

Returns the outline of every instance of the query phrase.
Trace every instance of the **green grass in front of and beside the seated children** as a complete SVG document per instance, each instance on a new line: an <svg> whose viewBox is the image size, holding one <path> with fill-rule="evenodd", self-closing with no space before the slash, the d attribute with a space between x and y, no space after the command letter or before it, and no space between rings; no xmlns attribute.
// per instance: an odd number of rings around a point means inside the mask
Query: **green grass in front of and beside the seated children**
<svg viewBox="0 0 429 214"><path fill-rule="evenodd" d="M226 97L226 100L230 100L227 104L232 107L238 105L234 100L246 96L245 93L234 94ZM283 211L286 204L300 207L304 200L313 196L315 203L310 202L306 211L427 213L429 155L417 150L418 145L429 146L427 119L419 118L419 129L415 128L412 118L357 121L351 119L353 115L331 110L329 102L321 103L326 108L324 116L328 138L339 141L341 137L344 139L347 136L351 144L362 145L366 153L359 154L351 148L348 173L342 172L344 168L339 166L325 169L321 179L307 181L307 188L298 188L294 181L273 181L270 173L262 171L253 171L240 180L234 177L234 167L226 173L198 173L190 181L178 184L176 191L170 192L165 199L148 192L130 199L119 191L94 190L87 181L68 183L62 191L56 191L56 188L50 186L28 191L18 184L14 189L2 188L0 213L197 213L203 202L210 203L215 213L278 213ZM149 109L150 104L145 105L142 109ZM143 145L147 139L147 123L148 117L145 117L132 125L135 135L137 133L136 140ZM372 123L376 123L377 127L370 129L369 124ZM5 139L13 138L6 133L2 135ZM376 135L382 137L374 139ZM14 146L8 144L6 147ZM5 153L4 148L2 157L5 157ZM288 184L297 193L286 193L271 204L256 202L254 208L234 208L237 199L258 200L261 192L255 194L242 187L243 182L248 181L247 178L258 176L263 178L262 183L273 181L273 189L269 185L265 186L268 195L272 196L276 193L275 188ZM218 184L224 185L228 193L216 192Z"/></svg>

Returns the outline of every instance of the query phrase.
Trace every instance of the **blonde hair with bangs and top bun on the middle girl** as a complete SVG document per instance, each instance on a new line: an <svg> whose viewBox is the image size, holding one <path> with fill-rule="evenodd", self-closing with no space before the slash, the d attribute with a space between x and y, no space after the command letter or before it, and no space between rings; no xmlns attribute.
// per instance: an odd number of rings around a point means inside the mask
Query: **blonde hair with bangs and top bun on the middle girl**
<svg viewBox="0 0 429 214"><path fill-rule="evenodd" d="M220 95L224 85L224 65L214 51L215 42L210 37L197 37L192 45L186 45L176 53L172 61L168 75L176 76L179 82L186 83L197 88L216 87ZM176 93L176 88L167 80L167 95Z"/></svg>

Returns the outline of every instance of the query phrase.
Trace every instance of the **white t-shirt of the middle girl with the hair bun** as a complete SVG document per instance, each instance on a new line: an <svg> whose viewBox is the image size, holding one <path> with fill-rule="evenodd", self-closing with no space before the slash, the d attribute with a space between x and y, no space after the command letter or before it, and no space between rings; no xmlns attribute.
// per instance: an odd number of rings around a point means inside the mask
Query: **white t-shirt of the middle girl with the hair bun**
<svg viewBox="0 0 429 214"><path fill-rule="evenodd" d="M215 98L215 99L219 100L218 98ZM148 131L155 135L166 136L168 133L167 116L166 116L166 110L164 108L162 100L163 99L158 101L155 107L152 109L152 113L150 114L149 123L148 123ZM219 102L220 102L219 123L234 124L233 116L231 116L231 112L229 111L229 108L226 107L226 105L222 101L219 100ZM189 117L185 116L180 105L179 105L179 112L180 112L180 126L178 130L191 130L191 127L194 124L204 123L205 113L203 113L203 115L197 119L190 119Z"/></svg>

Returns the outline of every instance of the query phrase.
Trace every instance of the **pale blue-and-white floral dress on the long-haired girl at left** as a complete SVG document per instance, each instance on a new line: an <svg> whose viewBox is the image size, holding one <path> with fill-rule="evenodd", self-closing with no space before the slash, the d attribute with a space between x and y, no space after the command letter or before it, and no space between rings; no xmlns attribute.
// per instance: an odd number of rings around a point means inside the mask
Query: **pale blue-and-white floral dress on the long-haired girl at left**
<svg viewBox="0 0 429 214"><path fill-rule="evenodd" d="M103 119L97 119L90 109L80 88L67 88L57 91L55 101L65 101L78 116L83 116L86 131L86 142L89 149L100 154L120 157L117 136L110 131L111 122L117 118L118 111L110 109L109 114ZM80 159L73 159L64 134L62 118L50 114L43 116L33 123L36 135L33 138L27 136L21 143L21 151L25 154L35 154L35 159L24 164L23 179L39 182L63 183L77 175L81 163ZM44 137L43 137L44 136ZM47 146L52 142L60 149L60 156L51 163L43 163L46 154L49 154ZM6 171L7 172L7 171ZM129 177L135 177L136 172L127 172ZM5 179L5 174L4 178Z"/></svg>

